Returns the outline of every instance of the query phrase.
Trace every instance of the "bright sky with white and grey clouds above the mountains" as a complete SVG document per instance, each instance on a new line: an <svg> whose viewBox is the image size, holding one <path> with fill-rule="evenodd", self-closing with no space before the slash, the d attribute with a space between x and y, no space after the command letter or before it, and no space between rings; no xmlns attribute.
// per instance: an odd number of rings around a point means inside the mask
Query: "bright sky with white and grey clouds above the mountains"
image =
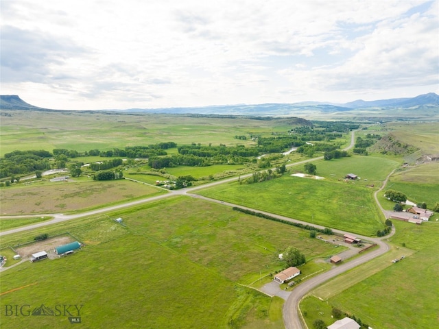
<svg viewBox="0 0 439 329"><path fill-rule="evenodd" d="M0 0L1 95L97 110L439 94L439 0Z"/></svg>

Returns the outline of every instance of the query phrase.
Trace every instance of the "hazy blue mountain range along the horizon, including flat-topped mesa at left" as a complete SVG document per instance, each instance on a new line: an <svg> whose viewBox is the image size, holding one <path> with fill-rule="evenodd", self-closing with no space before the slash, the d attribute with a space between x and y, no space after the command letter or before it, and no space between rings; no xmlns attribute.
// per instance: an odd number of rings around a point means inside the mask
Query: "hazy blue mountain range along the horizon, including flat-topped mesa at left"
<svg viewBox="0 0 439 329"><path fill-rule="evenodd" d="M300 103L265 103L265 104L237 104L222 106L200 106L187 108L130 108L127 110L106 110L123 113L163 113L163 114L220 114L220 115L290 115L298 112L335 113L352 110L367 109L407 109L426 110L439 107L439 96L436 93L418 95L412 98L380 99L364 101L358 99L349 103L334 104L315 101ZM1 110L40 110L51 111L47 108L33 106L23 101L18 95L0 95ZM94 112L94 111L93 111Z"/></svg>

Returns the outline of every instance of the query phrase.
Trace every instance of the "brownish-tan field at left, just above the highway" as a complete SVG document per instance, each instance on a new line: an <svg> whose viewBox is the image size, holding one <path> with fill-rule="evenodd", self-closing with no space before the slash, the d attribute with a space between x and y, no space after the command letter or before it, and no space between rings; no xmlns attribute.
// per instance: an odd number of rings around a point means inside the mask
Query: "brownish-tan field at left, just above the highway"
<svg viewBox="0 0 439 329"><path fill-rule="evenodd" d="M1 215L83 211L160 193L129 180L19 184L1 189Z"/></svg>

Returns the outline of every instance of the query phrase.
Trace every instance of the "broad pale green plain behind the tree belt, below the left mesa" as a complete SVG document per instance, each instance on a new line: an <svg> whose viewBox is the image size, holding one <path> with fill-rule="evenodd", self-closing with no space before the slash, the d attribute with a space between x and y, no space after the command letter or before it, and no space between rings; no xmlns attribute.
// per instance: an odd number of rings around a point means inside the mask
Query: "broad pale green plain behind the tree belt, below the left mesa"
<svg viewBox="0 0 439 329"><path fill-rule="evenodd" d="M286 132L292 119L252 120L166 114L8 111L1 119L3 156L14 149L55 148L88 151L173 141L178 144L252 145L235 135ZM74 120L73 120L74 118Z"/></svg>

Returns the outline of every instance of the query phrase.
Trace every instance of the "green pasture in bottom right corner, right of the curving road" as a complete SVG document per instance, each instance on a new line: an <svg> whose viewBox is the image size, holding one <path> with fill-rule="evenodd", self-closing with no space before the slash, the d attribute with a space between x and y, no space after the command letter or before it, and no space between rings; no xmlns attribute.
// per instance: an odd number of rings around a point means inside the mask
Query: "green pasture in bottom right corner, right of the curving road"
<svg viewBox="0 0 439 329"><path fill-rule="evenodd" d="M401 248L399 242L406 241L417 252L331 297L329 303L372 328L434 328L439 316L439 224L395 224L392 243Z"/></svg>

